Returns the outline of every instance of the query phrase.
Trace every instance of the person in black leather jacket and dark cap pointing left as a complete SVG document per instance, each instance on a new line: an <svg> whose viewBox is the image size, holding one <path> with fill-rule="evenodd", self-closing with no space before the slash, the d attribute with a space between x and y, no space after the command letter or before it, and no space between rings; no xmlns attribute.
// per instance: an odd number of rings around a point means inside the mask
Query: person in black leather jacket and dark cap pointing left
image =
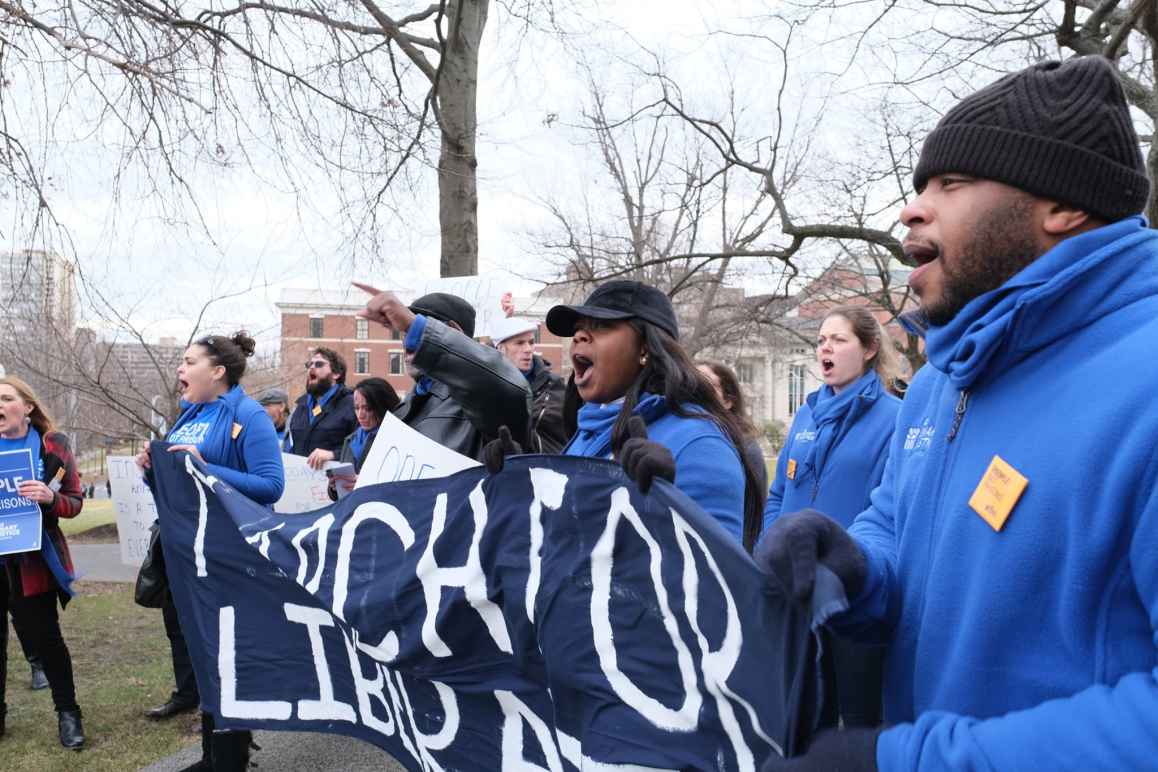
<svg viewBox="0 0 1158 772"><path fill-rule="evenodd" d="M415 388L394 410L400 420L470 458L481 458L501 426L527 442L530 387L503 354L474 340L470 303L437 292L406 307L391 292L354 286L373 295L362 315L403 336Z"/></svg>

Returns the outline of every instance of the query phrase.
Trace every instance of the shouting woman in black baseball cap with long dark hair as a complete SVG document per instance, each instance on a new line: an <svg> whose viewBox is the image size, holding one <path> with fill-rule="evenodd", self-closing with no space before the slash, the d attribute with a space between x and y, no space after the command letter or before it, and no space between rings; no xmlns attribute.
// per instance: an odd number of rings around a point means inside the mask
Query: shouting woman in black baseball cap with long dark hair
<svg viewBox="0 0 1158 772"><path fill-rule="evenodd" d="M638 281L608 281L581 306L548 311L547 328L571 337L567 392L577 431L563 453L618 458L629 473L644 472L632 476L645 490L655 470L674 471L676 487L750 550L764 492L736 450L742 428L679 343L667 295Z"/></svg>

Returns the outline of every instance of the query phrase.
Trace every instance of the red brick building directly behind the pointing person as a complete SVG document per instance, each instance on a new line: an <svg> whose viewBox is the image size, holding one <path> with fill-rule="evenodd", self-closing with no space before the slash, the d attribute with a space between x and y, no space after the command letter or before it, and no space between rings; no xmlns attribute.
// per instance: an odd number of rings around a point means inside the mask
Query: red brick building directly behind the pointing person
<svg viewBox="0 0 1158 772"><path fill-rule="evenodd" d="M281 315L281 373L291 399L306 388L305 366L310 351L332 348L346 360L346 383L365 377L384 377L400 395L413 385L406 375L401 336L381 324L359 318L365 308L359 295L318 289L284 289L277 302ZM542 322L550 303L543 299L516 297L519 315ZM525 310L526 309L526 310ZM536 350L562 372L564 341L540 325Z"/></svg>

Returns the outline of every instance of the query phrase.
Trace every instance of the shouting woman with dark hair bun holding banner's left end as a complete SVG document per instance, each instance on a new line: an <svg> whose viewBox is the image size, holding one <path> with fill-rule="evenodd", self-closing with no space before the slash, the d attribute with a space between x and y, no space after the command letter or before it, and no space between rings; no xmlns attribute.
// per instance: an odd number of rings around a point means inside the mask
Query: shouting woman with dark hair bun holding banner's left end
<svg viewBox="0 0 1158 772"><path fill-rule="evenodd" d="M182 412L166 440L171 443L169 453L188 453L242 494L273 506L285 490L278 434L265 410L241 387L254 346L248 333L237 332L232 337L205 336L185 350L177 367ZM137 463L144 470L152 465L147 446ZM176 668L184 637L171 596L167 600L162 611ZM188 667L188 652L184 656ZM214 731L214 716L203 709L201 759L186 770L244 770L251 734Z"/></svg>

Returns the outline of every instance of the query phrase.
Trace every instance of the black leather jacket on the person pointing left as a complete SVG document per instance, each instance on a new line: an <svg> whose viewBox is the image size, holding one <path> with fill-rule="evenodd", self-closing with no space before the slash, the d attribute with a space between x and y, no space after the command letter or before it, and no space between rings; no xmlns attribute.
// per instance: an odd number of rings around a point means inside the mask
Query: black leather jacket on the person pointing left
<svg viewBox="0 0 1158 772"><path fill-rule="evenodd" d="M433 383L427 394L411 391L394 409L403 424L470 458L481 458L500 426L528 447L530 385L498 350L427 317L415 365Z"/></svg>

